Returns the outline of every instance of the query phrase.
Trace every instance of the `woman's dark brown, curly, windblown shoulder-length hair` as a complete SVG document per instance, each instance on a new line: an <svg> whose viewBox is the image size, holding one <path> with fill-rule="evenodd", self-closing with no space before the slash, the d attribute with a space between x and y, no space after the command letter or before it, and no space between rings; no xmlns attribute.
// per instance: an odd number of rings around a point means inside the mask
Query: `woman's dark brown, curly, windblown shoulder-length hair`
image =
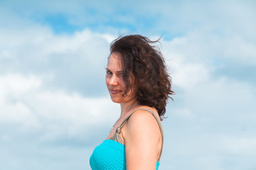
<svg viewBox="0 0 256 170"><path fill-rule="evenodd" d="M159 47L151 45L155 42L159 40L151 41L142 35L127 35L111 43L110 53L118 52L121 55L122 74L127 87L124 95L135 87L137 103L156 108L163 120L167 100L174 91L171 91L171 77L164 57Z"/></svg>

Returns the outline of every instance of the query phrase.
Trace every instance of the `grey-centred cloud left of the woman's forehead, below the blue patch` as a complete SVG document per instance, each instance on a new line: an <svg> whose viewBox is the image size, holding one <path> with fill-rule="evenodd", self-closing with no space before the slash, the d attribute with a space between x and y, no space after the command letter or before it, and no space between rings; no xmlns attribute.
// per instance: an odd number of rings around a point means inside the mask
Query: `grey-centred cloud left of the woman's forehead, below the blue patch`
<svg viewBox="0 0 256 170"><path fill-rule="evenodd" d="M9 28L4 25L0 28L2 74L32 72L52 77L46 84L52 88L77 91L87 96L107 94L103 90L104 70L110 41L114 39L112 35L87 29L72 35L54 35L46 26L15 17L20 21L17 26ZM30 24L24 26L26 23ZM97 91L90 91L92 87Z"/></svg>

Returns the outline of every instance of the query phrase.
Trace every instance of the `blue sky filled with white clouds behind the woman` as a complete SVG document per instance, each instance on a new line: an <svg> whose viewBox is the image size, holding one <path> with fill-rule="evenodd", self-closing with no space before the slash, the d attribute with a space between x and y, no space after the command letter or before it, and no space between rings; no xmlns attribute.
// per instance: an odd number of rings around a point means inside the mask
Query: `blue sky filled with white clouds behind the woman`
<svg viewBox="0 0 256 170"><path fill-rule="evenodd" d="M0 1L0 169L90 169L120 108L110 43L161 37L162 170L256 169L255 1Z"/></svg>

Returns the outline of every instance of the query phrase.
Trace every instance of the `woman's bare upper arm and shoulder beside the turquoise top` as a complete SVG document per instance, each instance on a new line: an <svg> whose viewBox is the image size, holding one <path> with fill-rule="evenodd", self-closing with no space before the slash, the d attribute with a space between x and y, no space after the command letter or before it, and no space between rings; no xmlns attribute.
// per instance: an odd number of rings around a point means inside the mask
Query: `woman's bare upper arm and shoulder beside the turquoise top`
<svg viewBox="0 0 256 170"><path fill-rule="evenodd" d="M159 125L148 111L136 111L127 121L124 133L127 170L156 169Z"/></svg>

